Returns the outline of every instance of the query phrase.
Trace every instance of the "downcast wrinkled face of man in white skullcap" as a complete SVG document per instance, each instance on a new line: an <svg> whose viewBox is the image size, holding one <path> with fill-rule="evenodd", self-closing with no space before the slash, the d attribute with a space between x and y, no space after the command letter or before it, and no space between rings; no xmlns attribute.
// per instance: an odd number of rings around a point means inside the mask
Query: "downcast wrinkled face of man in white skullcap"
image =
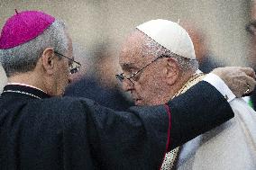
<svg viewBox="0 0 256 170"><path fill-rule="evenodd" d="M126 77L147 66L155 58L145 53L142 32L135 31L123 44L119 63ZM143 51L144 50L144 51ZM123 80L123 90L129 91L136 105L156 105L162 103L166 94L164 77L164 58L151 63L132 79Z"/></svg>

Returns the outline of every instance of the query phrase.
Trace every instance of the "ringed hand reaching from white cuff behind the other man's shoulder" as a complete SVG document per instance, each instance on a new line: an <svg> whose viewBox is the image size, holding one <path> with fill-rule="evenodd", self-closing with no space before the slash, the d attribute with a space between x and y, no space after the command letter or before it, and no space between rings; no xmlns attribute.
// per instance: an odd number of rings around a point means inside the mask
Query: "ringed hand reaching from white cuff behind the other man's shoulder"
<svg viewBox="0 0 256 170"><path fill-rule="evenodd" d="M255 72L251 67L218 67L212 73L220 76L236 97L250 94L256 85Z"/></svg>

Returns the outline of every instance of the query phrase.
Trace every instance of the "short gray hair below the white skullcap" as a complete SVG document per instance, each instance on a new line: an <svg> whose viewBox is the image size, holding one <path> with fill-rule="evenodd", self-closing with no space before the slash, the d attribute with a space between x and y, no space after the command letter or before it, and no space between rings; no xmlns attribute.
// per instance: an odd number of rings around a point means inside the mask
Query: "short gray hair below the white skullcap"
<svg viewBox="0 0 256 170"><path fill-rule="evenodd" d="M179 56L169 49L164 48L155 40L152 40L147 35L144 35L144 47L143 47L143 55L153 55L155 58L159 57L160 55L165 55L170 58L176 58L178 62L178 67L182 71L182 74L186 74L187 72L196 72L198 69L198 62L197 59L189 59Z"/></svg>

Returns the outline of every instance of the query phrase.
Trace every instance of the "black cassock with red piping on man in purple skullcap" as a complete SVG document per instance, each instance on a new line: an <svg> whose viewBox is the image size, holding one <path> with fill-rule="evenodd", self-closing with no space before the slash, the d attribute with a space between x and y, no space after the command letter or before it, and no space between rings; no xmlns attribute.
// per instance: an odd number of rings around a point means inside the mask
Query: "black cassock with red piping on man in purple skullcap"
<svg viewBox="0 0 256 170"><path fill-rule="evenodd" d="M168 104L127 112L6 85L0 97L0 169L155 170L167 150L232 117L230 105L206 82Z"/></svg>

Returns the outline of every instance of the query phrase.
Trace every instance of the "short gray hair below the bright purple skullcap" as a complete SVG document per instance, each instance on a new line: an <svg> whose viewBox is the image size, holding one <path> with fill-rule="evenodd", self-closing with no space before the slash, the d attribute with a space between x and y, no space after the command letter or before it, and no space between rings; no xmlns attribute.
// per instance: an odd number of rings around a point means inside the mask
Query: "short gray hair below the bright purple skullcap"
<svg viewBox="0 0 256 170"><path fill-rule="evenodd" d="M12 49L0 49L0 62L7 77L32 71L44 49L54 48L63 54L68 50L68 42L65 23L56 20L35 39Z"/></svg>

